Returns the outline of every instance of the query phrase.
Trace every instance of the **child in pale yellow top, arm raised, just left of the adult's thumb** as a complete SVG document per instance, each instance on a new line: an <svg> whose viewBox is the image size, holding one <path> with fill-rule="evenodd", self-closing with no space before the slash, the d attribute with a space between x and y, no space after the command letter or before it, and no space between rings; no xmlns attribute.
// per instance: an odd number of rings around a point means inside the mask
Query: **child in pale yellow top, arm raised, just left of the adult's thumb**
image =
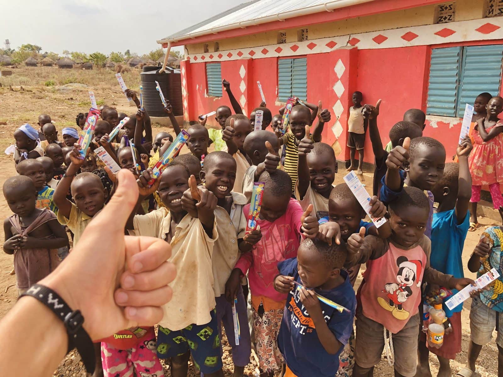
<svg viewBox="0 0 503 377"><path fill-rule="evenodd" d="M66 225L74 234L75 246L93 216L103 209L108 193L98 175L80 173L77 171L84 160L77 157L78 149L69 152L71 163L54 192L54 203L58 206L58 221ZM71 191L75 203L70 202L66 195Z"/></svg>

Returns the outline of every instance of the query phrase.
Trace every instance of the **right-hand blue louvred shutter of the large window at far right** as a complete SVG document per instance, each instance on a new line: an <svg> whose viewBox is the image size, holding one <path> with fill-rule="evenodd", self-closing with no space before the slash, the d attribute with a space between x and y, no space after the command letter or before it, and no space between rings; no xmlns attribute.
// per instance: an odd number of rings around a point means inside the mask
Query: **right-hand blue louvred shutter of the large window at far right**
<svg viewBox="0 0 503 377"><path fill-rule="evenodd" d="M488 91L499 96L503 45L469 46L463 50L463 64L458 94L458 117L465 112L465 104L473 105L477 96Z"/></svg>

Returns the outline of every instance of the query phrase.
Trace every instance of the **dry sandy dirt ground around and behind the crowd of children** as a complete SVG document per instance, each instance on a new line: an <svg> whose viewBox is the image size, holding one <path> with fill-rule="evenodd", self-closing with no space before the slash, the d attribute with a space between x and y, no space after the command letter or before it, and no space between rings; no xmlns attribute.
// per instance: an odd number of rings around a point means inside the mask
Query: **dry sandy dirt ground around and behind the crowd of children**
<svg viewBox="0 0 503 377"><path fill-rule="evenodd" d="M82 71L73 69L59 69L52 67L21 67L13 69L12 76L0 76L0 122L7 122L7 125L0 125L0 150L14 143L13 133L16 128L28 122L36 127L39 114L47 113L51 116L53 123L58 130L63 127L75 127L75 116L78 113L86 113L91 107L88 91L93 90L98 103L114 106L119 112L132 115L135 112L134 107L130 107L126 98L123 96L120 87L114 76L115 72L106 70ZM139 71L131 69L130 73L123 75L127 85L132 89L138 89ZM53 81L54 86L45 86L47 81ZM77 83L74 85L72 83ZM9 87L12 86L12 89ZM66 86L65 86L66 85ZM211 111L213 109L208 109ZM154 125L155 127L155 125ZM166 128L154 128L154 135L159 131L172 131ZM61 137L60 137L61 140ZM12 157L2 153L0 155L0 185L4 181L16 174ZM336 177L336 183L342 182L342 174ZM372 190L371 172L363 175L362 181L367 185L369 191ZM0 218L6 218L12 213L7 203L2 198L0 200ZM485 226L496 225L489 218L479 218L481 228L476 232L469 232L463 251L463 264L465 265L465 276L474 277L475 274L468 271L466 264L474 246L476 245L480 233ZM4 235L0 235L0 241L4 242ZM16 276L10 275L12 269L12 256L0 253L0 318L12 308L16 302ZM359 276L357 284L361 281ZM461 369L467 357L468 342L470 339L469 328L469 308L470 300L465 302L465 310L462 312L463 323L463 351L457 355L456 360L451 362L451 368L454 374ZM495 333L493 334L495 338ZM225 375L232 373L232 362L229 355L230 347L224 344L224 368ZM483 377L497 375L497 347L495 342L491 342L482 348L477 363L478 372ZM415 357L415 355L410 355ZM61 365L55 371L55 376L85 376L85 370L82 362L79 361L78 354L71 353L61 362ZM438 371L438 361L430 356L432 373L436 375ZM251 375L253 366L251 364L246 368L248 375ZM190 375L192 374L192 370ZM165 376L170 376L170 372L165 367ZM383 358L377 365L375 375L389 376L393 375L391 367Z"/></svg>

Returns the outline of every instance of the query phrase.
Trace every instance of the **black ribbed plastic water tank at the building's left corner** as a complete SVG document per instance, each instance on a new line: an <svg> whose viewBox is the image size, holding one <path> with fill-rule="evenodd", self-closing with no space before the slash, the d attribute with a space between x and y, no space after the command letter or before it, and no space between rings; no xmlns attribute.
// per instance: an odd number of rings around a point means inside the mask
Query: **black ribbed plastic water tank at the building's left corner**
<svg viewBox="0 0 503 377"><path fill-rule="evenodd" d="M169 100L173 106L174 115L183 115L182 75L179 70L170 67L166 67L164 72L159 73L160 68L151 66L142 68L140 85L143 87L141 90L143 108L151 117L167 117L159 92L155 88L155 81L157 81L164 98Z"/></svg>

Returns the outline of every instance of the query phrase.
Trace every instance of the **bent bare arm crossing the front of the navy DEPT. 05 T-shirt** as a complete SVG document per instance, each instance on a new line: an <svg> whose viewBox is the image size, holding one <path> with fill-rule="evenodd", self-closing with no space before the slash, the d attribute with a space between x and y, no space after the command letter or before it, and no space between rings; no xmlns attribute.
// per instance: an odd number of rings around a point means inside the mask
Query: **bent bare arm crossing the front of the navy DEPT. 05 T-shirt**
<svg viewBox="0 0 503 377"><path fill-rule="evenodd" d="M337 340L336 336L333 335L332 331L328 328L316 293L302 287L299 299L309 313L309 317L313 320L314 326L316 327L316 334L325 351L330 355L339 352L343 344Z"/></svg>

